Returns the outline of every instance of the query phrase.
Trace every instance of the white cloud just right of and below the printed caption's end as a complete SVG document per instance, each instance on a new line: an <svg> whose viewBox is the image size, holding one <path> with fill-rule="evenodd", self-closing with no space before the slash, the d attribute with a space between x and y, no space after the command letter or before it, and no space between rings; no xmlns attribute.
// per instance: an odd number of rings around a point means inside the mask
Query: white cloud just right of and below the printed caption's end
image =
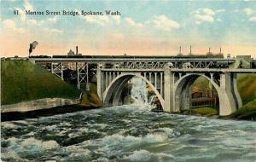
<svg viewBox="0 0 256 162"><path fill-rule="evenodd" d="M164 31L171 31L172 29L178 29L180 25L174 21L166 17L166 15L158 15L154 16L152 20L149 20L148 23L151 23L157 29L161 29Z"/></svg>

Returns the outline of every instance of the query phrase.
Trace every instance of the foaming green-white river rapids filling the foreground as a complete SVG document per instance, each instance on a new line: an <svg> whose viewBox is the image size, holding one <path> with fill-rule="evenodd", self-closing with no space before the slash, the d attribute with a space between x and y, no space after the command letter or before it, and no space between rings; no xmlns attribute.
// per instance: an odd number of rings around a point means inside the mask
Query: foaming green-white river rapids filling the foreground
<svg viewBox="0 0 256 162"><path fill-rule="evenodd" d="M256 123L109 107L2 122L3 161L252 161Z"/></svg>

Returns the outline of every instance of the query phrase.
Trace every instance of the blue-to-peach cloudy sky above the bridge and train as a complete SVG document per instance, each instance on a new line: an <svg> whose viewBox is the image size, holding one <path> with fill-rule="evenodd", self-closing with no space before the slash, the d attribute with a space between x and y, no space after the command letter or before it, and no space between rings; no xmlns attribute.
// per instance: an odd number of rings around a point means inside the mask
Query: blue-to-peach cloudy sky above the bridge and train
<svg viewBox="0 0 256 162"><path fill-rule="evenodd" d="M19 14L14 14L18 10ZM44 15L25 14L44 11ZM45 15L78 11L79 16ZM81 15L102 11L104 15ZM105 10L120 15L106 15ZM67 55L75 46L83 55L224 55L256 58L256 1L49 1L0 0L1 57Z"/></svg>

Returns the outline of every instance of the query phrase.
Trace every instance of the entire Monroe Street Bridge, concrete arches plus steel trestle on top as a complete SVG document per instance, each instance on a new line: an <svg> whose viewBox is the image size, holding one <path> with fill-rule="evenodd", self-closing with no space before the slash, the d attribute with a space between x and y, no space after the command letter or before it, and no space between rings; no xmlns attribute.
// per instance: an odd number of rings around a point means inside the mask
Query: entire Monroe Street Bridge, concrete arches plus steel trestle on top
<svg viewBox="0 0 256 162"><path fill-rule="evenodd" d="M91 56L82 58L30 58L33 63L63 78L67 68L77 75L78 88L96 76L97 94L105 105L123 104L122 90L133 78L142 78L160 101L164 112L191 108L191 86L207 78L218 93L219 114L229 115L242 106L236 88L237 73L256 73L238 68L239 61L224 58L173 58L170 56Z"/></svg>

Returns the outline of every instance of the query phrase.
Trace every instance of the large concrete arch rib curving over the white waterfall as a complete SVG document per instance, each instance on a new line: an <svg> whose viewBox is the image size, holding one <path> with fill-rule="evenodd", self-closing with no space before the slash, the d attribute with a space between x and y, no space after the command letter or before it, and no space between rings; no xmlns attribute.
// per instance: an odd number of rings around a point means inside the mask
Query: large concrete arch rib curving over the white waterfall
<svg viewBox="0 0 256 162"><path fill-rule="evenodd" d="M154 90L155 95L160 100L161 107L164 108L164 99L160 93L155 89L154 85L151 84L147 78L144 78L140 72L123 73L118 77L114 78L113 81L108 85L107 89L103 93L103 102L108 106L120 105L121 92L125 88L125 84L133 77L142 78L149 87Z"/></svg>

